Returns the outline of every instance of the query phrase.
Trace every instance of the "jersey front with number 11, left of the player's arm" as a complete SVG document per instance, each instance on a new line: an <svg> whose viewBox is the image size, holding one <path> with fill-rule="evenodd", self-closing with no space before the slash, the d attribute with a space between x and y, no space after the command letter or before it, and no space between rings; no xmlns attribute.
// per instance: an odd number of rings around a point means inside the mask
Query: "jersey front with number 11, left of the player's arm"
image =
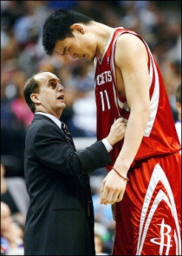
<svg viewBox="0 0 182 256"><path fill-rule="evenodd" d="M115 36L110 36L103 58L101 60L97 59L95 68L98 140L100 140L101 137L107 136L110 125L120 116L122 106L120 107L118 105L118 101L125 101L124 98L122 99L122 97L118 95L118 88L115 83L116 78L114 79L115 73L113 73L112 70L112 65L114 65L114 63L112 63L114 61L113 55L115 52L115 50L112 49L114 41ZM120 85L123 85L124 88L121 76L118 76L117 81L120 82ZM103 123L107 125L103 125Z"/></svg>

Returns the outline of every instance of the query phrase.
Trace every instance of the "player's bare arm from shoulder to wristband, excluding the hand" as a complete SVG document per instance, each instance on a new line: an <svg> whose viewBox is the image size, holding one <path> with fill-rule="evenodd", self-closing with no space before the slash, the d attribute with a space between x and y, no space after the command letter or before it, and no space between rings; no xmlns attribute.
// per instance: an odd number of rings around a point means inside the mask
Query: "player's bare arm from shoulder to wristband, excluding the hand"
<svg viewBox="0 0 182 256"><path fill-rule="evenodd" d="M144 43L137 36L129 34L118 39L115 51L115 63L121 70L124 81L124 91L127 103L131 110L124 146L116 160L115 167L121 174L127 174L127 170L134 160L135 154L141 144L146 124L149 121L149 70L147 67L147 54ZM118 83L118 86L120 84ZM137 131L137 132L135 132ZM125 160L127 170L120 170ZM118 166L119 165L119 166Z"/></svg>

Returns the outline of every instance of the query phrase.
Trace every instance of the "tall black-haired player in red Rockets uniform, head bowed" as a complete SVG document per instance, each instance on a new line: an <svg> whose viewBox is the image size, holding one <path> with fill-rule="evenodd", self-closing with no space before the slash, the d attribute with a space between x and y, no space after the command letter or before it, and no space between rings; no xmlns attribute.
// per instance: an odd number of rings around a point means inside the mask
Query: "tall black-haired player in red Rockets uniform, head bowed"
<svg viewBox="0 0 182 256"><path fill-rule="evenodd" d="M95 59L98 140L118 116L127 122L101 188L116 221L112 255L181 255L181 145L148 45L73 10L47 17L42 43L50 56Z"/></svg>

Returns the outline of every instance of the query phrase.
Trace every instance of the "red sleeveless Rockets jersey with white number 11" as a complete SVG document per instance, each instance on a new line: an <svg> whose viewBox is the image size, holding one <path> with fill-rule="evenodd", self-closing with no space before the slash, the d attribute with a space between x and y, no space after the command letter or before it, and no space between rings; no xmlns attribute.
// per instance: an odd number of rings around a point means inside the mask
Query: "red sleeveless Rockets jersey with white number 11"
<svg viewBox="0 0 182 256"><path fill-rule="evenodd" d="M115 119L123 116L129 118L129 107L127 99L118 94L118 86L115 75L115 42L119 36L130 33L138 36L144 42L149 56L149 95L151 114L149 122L144 131L144 137L136 160L151 157L159 154L169 154L180 151L181 145L178 134L175 130L175 122L172 116L166 88L155 59L144 39L132 30L125 30L124 27L116 27L109 38L102 59L96 56L95 67L95 101L97 107L97 138L98 140L107 137L110 127ZM135 58L135 56L133 56ZM133 85L135 86L135 85ZM138 99L139 101L140 99ZM109 153L113 163L121 151L123 140L114 145ZM108 167L110 169L111 166Z"/></svg>

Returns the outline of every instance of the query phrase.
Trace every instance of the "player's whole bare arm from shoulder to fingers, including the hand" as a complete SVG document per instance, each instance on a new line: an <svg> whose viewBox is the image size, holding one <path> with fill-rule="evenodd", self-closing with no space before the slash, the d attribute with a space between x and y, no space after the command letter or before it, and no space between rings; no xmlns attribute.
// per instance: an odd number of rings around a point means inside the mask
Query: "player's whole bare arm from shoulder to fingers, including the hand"
<svg viewBox="0 0 182 256"><path fill-rule="evenodd" d="M118 70L118 89L121 95L127 96L131 112L124 145L114 168L123 177L127 177L127 171L137 154L150 114L149 71L143 42L136 36L127 34L121 36L116 45L115 65ZM126 180L122 178L118 180L118 174L114 170L109 171L101 188L101 203L113 204L122 200L126 186Z"/></svg>

